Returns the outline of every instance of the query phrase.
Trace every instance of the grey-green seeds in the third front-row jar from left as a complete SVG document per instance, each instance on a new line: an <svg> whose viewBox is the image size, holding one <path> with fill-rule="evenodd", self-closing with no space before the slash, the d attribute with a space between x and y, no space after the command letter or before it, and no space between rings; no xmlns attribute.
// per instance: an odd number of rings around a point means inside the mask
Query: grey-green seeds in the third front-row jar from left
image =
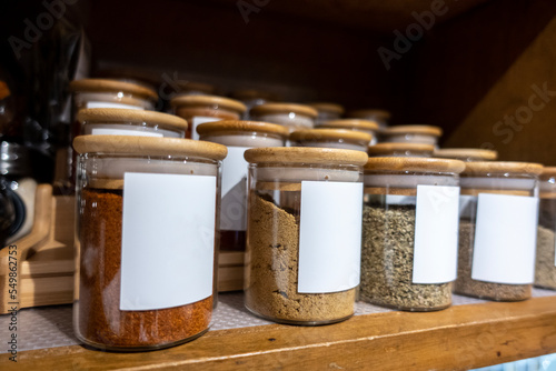
<svg viewBox="0 0 556 371"><path fill-rule="evenodd" d="M403 310L451 304L451 283L413 283L415 205L365 205L359 297Z"/></svg>

